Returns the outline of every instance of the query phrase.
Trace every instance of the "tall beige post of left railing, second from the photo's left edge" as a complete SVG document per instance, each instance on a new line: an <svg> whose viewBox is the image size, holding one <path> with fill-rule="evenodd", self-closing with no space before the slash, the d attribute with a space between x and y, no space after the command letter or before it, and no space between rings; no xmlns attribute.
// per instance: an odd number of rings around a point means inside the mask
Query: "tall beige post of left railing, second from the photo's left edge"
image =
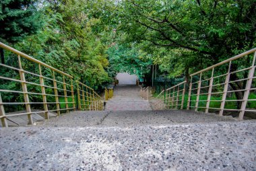
<svg viewBox="0 0 256 171"><path fill-rule="evenodd" d="M30 108L30 100L28 97L28 89L27 89L27 84L26 84L26 78L25 78L25 74L24 71L22 69L22 61L20 59L20 55L18 55L18 61L19 61L19 66L20 66L20 80L22 81L22 92L23 92L23 96L24 96L24 101L26 102L26 110L28 112L28 124L32 125L33 124L33 118L32 118L32 114L31 114L31 108Z"/></svg>

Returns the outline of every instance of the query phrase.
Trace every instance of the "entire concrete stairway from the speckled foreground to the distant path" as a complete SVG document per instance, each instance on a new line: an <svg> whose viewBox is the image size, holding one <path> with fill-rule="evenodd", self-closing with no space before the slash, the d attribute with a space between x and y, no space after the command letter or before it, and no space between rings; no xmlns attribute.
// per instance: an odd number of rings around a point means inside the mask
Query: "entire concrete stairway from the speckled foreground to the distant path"
<svg viewBox="0 0 256 171"><path fill-rule="evenodd" d="M152 110L135 86L115 88L104 111L1 129L0 140L0 170L256 170L254 120Z"/></svg>

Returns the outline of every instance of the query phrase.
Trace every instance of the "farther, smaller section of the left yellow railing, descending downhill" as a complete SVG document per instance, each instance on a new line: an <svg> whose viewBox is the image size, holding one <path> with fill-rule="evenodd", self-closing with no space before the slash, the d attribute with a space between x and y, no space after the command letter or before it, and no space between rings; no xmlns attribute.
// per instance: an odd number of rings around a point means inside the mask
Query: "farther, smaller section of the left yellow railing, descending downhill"
<svg viewBox="0 0 256 171"><path fill-rule="evenodd" d="M103 101L101 97L89 86L77 82L77 98L79 110L102 110Z"/></svg>

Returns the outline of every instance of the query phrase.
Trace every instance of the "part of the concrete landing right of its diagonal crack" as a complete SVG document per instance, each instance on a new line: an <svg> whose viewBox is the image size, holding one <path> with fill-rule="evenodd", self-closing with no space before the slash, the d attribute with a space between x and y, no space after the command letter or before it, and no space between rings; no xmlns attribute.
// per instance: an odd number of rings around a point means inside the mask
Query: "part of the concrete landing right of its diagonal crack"
<svg viewBox="0 0 256 171"><path fill-rule="evenodd" d="M179 123L214 123L235 121L232 116L218 116L192 110L111 111L102 127L137 127L177 125Z"/></svg>

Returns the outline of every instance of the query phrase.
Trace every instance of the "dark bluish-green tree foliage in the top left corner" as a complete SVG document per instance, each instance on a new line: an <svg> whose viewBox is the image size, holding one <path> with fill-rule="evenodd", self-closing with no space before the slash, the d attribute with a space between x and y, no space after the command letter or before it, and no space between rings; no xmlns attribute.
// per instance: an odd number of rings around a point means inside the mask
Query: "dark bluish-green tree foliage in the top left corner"
<svg viewBox="0 0 256 171"><path fill-rule="evenodd" d="M35 34L42 26L40 11L33 0L0 1L0 40L18 42L25 36ZM1 63L5 63L3 48L0 48Z"/></svg>

